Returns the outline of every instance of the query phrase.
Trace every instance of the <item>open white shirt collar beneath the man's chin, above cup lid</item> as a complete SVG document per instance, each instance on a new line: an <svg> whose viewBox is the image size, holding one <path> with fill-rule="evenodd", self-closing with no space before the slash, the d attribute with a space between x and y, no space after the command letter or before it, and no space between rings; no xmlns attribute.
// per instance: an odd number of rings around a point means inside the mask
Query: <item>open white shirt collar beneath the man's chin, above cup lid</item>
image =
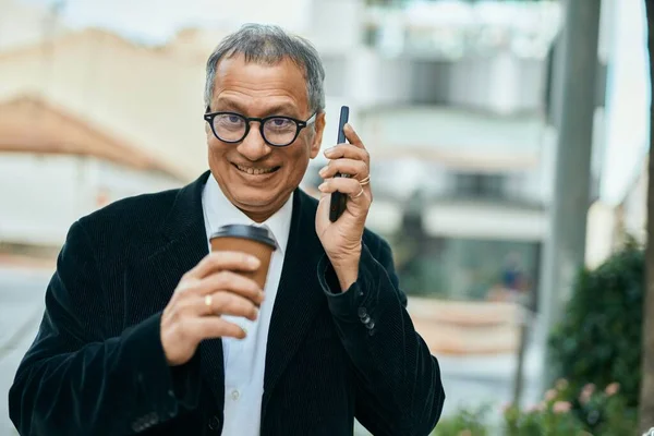
<svg viewBox="0 0 654 436"><path fill-rule="evenodd" d="M291 218L293 214L293 195L277 210L270 218L264 222L254 222L241 209L235 207L222 193L216 178L209 174L207 183L202 194L202 206L205 214L205 228L207 238L216 230L227 225L251 225L266 227L277 242L277 247L282 253L286 252L289 233L291 229Z"/></svg>

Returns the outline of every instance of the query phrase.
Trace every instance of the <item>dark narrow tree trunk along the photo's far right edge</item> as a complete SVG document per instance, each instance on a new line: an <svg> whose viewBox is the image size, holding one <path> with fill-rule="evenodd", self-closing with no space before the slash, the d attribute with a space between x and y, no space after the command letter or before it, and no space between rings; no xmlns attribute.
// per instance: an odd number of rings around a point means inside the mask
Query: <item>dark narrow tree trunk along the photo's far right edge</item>
<svg viewBox="0 0 654 436"><path fill-rule="evenodd" d="M654 0L645 0L650 80L654 80ZM650 125L654 125L654 105L650 106ZM645 300L643 304L643 377L640 396L640 427L654 427L654 129L650 129L647 165L647 247L645 252Z"/></svg>

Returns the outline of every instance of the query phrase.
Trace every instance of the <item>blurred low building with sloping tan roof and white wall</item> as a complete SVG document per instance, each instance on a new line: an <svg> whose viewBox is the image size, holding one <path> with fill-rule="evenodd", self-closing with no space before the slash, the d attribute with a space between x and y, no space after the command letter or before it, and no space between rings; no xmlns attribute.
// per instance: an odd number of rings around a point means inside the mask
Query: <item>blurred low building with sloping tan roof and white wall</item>
<svg viewBox="0 0 654 436"><path fill-rule="evenodd" d="M0 105L0 249L57 252L81 216L179 186L177 169L48 101Z"/></svg>

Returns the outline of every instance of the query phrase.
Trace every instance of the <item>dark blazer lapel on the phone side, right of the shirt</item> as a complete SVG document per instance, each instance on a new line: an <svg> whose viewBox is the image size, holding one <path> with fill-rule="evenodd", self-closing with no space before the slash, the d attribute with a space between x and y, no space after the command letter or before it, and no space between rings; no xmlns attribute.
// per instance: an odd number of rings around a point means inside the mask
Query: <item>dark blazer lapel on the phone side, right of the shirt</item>
<svg viewBox="0 0 654 436"><path fill-rule="evenodd" d="M324 251L315 232L315 201L296 190L288 250L268 330L262 422L279 377L325 302L316 270Z"/></svg>

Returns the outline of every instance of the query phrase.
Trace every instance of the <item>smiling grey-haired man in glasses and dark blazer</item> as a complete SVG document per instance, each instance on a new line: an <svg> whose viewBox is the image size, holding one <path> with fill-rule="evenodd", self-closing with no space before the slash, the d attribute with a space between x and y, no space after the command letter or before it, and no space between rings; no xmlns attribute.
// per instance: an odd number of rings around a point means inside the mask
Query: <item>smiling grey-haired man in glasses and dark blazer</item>
<svg viewBox="0 0 654 436"><path fill-rule="evenodd" d="M445 399L391 252L364 229L370 160L352 130L323 196L298 186L325 129L324 70L305 40L249 25L207 62L206 172L75 222L10 391L23 435L427 435ZM334 178L336 172L352 177ZM329 194L349 196L328 219ZM265 289L226 223L275 237Z"/></svg>

